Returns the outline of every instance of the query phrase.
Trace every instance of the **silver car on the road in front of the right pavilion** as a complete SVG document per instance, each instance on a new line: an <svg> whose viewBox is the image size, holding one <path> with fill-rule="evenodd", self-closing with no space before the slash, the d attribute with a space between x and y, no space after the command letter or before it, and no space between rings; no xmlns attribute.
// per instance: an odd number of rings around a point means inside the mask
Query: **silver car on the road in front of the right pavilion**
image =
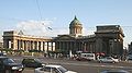
<svg viewBox="0 0 132 73"><path fill-rule="evenodd" d="M112 57L105 57L105 58L100 58L98 59L99 62L105 62L105 63L116 63L119 62L118 59L114 59Z"/></svg>

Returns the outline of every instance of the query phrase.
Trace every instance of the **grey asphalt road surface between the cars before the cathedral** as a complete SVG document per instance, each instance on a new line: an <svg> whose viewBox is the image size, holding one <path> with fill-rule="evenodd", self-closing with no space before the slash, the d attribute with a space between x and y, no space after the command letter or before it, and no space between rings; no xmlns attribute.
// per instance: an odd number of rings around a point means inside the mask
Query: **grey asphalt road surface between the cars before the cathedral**
<svg viewBox="0 0 132 73"><path fill-rule="evenodd" d="M25 57L11 57L15 61L21 62ZM30 57L31 58L31 57ZM88 61L75 61L67 59L48 59L48 58L37 58L43 63L61 64L68 70L76 71L78 73L100 73L105 70L125 70L132 73L132 63L120 62L120 63L98 63ZM23 73L34 73L34 69L25 68Z"/></svg>

